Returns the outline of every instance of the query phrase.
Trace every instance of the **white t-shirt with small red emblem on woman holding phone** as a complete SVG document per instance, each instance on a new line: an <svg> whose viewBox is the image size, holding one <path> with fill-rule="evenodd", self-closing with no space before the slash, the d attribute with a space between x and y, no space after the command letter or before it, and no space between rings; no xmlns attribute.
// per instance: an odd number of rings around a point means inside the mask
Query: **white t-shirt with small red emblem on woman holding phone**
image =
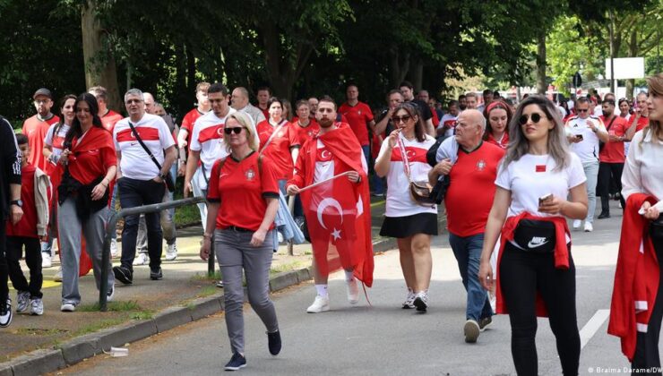
<svg viewBox="0 0 663 376"><path fill-rule="evenodd" d="M554 217L538 211L538 198L552 193L566 199L569 190L587 181L580 158L571 153L571 163L561 171L553 171L557 164L549 155L525 154L504 168L500 164L495 185L511 191L509 217L523 211L537 217Z"/></svg>

